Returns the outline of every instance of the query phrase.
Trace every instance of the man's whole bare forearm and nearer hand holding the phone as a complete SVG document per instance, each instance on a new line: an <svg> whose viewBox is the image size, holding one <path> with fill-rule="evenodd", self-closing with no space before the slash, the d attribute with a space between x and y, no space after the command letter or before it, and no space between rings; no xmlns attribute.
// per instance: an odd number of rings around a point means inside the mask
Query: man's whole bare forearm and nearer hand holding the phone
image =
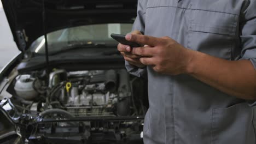
<svg viewBox="0 0 256 144"><path fill-rule="evenodd" d="M185 49L171 38L127 34L126 40L149 45L132 49L144 65L159 73L188 74L229 95L256 100L256 71L248 60L228 61L206 53Z"/></svg>

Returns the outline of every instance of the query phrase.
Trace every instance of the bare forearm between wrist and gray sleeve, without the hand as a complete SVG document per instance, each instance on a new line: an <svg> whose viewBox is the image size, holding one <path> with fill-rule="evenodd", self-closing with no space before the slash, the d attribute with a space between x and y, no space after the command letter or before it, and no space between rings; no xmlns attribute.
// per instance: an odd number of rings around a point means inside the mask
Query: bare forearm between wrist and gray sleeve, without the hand
<svg viewBox="0 0 256 144"><path fill-rule="evenodd" d="M256 99L256 70L250 61L228 61L190 52L193 57L188 65L189 75L235 97Z"/></svg>

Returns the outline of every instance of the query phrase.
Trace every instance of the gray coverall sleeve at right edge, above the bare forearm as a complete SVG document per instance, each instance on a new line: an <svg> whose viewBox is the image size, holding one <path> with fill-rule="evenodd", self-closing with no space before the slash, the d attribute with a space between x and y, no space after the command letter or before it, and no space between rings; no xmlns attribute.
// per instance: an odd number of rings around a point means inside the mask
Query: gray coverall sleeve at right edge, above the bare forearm
<svg viewBox="0 0 256 144"><path fill-rule="evenodd" d="M240 59L248 59L256 69L256 1L248 0L245 5L240 15Z"/></svg>

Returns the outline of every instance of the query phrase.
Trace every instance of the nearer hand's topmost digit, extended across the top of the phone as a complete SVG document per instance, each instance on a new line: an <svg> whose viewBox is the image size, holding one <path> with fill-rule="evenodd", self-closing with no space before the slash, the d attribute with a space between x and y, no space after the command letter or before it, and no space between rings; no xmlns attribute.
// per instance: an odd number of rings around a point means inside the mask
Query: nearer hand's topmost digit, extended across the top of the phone
<svg viewBox="0 0 256 144"><path fill-rule="evenodd" d="M126 34L125 39L141 45L157 46L163 42L161 38L150 37L148 35Z"/></svg>

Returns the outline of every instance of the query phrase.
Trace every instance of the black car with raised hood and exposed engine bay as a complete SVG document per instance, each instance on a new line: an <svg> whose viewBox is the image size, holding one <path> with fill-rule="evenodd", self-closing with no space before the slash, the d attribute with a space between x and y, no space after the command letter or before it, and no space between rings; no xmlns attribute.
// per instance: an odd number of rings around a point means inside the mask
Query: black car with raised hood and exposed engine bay
<svg viewBox="0 0 256 144"><path fill-rule="evenodd" d="M0 74L0 143L143 143L147 80L109 33L133 0L2 0L19 55Z"/></svg>

